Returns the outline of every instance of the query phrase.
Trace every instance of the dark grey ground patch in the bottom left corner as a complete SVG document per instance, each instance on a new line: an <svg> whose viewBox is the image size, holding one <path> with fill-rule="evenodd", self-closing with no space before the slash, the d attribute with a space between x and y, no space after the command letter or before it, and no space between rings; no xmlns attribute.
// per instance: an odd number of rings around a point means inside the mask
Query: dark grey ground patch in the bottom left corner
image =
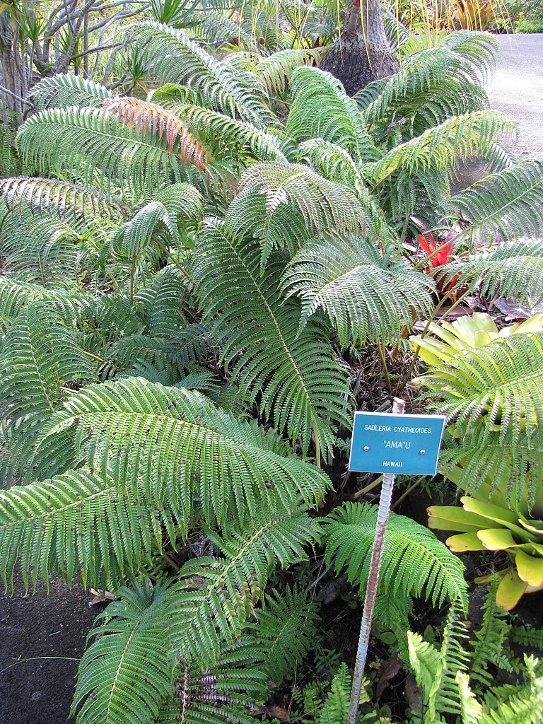
<svg viewBox="0 0 543 724"><path fill-rule="evenodd" d="M59 581L51 581L49 595L40 584L34 596L26 596L17 583L13 597L0 597L1 724L72 721L68 712L77 663L99 613L98 607L88 605L92 598Z"/></svg>

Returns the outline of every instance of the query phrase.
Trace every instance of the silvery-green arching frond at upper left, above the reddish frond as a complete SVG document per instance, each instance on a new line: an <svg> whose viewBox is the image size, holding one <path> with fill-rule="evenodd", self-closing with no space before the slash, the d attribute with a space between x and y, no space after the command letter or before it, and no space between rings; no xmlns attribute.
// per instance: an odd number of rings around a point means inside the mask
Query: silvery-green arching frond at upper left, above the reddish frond
<svg viewBox="0 0 543 724"><path fill-rule="evenodd" d="M162 83L188 85L195 104L250 122L271 119L255 75L216 61L181 30L156 22L139 23L131 46L146 54Z"/></svg>

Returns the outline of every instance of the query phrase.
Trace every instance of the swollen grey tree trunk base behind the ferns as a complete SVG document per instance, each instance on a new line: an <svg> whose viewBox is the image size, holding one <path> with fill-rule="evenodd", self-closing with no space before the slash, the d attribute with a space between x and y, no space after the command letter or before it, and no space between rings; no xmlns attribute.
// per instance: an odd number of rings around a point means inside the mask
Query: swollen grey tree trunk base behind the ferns
<svg viewBox="0 0 543 724"><path fill-rule="evenodd" d="M353 0L340 38L330 46L321 62L322 70L341 80L354 96L372 80L400 70L384 32L379 0ZM362 11L362 12L361 12Z"/></svg>

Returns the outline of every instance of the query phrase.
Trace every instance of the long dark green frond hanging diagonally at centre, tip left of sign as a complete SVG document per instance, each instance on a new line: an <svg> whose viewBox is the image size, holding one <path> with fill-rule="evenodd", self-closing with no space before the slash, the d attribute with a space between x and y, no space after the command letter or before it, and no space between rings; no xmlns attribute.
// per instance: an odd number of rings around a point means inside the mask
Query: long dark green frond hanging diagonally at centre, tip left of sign
<svg viewBox="0 0 543 724"><path fill-rule="evenodd" d="M346 379L321 329L309 323L298 334L300 308L280 303L282 261L261 277L254 241L234 243L219 224L209 225L195 247L193 266L206 318L219 319L212 334L240 390L290 439L301 436L307 452L311 432L322 450L332 448L332 430L348 424L343 412Z"/></svg>

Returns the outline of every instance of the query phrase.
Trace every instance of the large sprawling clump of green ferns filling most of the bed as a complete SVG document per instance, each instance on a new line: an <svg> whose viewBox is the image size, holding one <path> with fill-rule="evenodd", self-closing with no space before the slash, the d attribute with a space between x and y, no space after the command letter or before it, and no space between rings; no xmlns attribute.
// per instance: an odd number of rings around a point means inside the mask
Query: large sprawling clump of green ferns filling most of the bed
<svg viewBox="0 0 543 724"><path fill-rule="evenodd" d="M432 311L403 256L413 214L518 237L541 222L543 168L500 149L486 35L411 43L354 99L299 50L219 61L157 23L131 47L148 98L43 80L18 135L28 175L1 186L0 572L119 592L80 665L79 723L248 722L316 619L298 589L263 607L274 570L323 542L364 585L374 509L309 511L348 435L351 351ZM501 170L452 198L473 153ZM535 245L492 254L447 273L534 288ZM411 595L466 607L429 531L393 517L389 536L382 620L400 630ZM151 588L172 551L179 570Z"/></svg>

